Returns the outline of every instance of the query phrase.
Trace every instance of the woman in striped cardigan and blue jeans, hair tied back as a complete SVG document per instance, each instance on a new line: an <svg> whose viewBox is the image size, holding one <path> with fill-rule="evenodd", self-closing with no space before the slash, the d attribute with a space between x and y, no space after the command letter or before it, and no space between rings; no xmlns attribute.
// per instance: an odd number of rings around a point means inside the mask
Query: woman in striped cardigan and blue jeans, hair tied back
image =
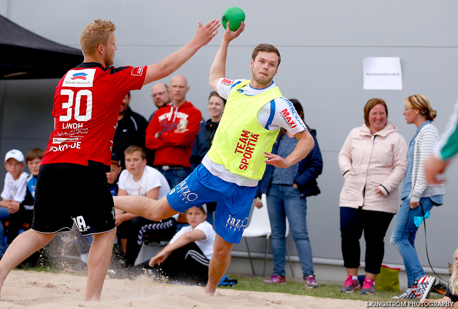
<svg viewBox="0 0 458 309"><path fill-rule="evenodd" d="M439 132L431 121L436 111L422 94L404 100L404 116L408 124L417 127L407 151L407 168L402 205L398 212L391 241L404 259L409 288L395 298L426 298L434 286L434 277L425 277L414 247L415 234L421 222L429 217L432 207L442 205L444 185L428 185L425 180L425 161L439 138Z"/></svg>

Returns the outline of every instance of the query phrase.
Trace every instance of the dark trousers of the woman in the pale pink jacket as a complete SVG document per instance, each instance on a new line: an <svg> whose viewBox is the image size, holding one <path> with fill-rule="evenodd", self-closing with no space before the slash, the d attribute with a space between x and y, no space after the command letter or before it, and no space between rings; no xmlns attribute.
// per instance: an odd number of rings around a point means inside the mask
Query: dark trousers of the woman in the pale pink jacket
<svg viewBox="0 0 458 309"><path fill-rule="evenodd" d="M346 268L360 266L360 238L364 230L366 241L366 267L364 270L372 274L380 273L380 266L385 253L383 239L394 214L384 211L363 210L362 207L339 208L344 266Z"/></svg>

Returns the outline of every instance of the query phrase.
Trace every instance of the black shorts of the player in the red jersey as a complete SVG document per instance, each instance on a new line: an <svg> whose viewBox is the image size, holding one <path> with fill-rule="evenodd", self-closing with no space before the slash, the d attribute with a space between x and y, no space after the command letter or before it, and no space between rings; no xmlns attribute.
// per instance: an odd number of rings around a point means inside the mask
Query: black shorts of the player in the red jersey
<svg viewBox="0 0 458 309"><path fill-rule="evenodd" d="M83 235L116 227L114 203L102 163L40 166L33 207L34 231L68 232L73 223Z"/></svg>

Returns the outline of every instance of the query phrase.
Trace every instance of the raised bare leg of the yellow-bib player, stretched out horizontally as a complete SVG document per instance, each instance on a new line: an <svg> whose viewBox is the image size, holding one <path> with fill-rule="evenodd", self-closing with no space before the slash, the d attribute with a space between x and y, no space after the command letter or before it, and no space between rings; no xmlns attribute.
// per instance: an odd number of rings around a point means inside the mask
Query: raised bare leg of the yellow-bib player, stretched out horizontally
<svg viewBox="0 0 458 309"><path fill-rule="evenodd" d="M178 213L170 207L165 196L158 201L141 195L113 196L113 200L114 208L153 221L160 221Z"/></svg>

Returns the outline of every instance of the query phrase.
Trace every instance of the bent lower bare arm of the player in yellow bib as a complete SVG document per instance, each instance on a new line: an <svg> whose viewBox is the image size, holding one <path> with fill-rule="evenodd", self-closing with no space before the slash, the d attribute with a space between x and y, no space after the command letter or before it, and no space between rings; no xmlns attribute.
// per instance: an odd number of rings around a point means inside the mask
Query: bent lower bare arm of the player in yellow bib
<svg viewBox="0 0 458 309"><path fill-rule="evenodd" d="M288 157L282 158L276 154L264 152L266 154L264 157L268 158L268 160L264 160L264 162L278 168L289 168L307 157L309 152L313 149L313 146L315 146L315 141L310 135L309 130L303 130L296 133L294 137L297 138L298 142L293 152L291 152Z"/></svg>

